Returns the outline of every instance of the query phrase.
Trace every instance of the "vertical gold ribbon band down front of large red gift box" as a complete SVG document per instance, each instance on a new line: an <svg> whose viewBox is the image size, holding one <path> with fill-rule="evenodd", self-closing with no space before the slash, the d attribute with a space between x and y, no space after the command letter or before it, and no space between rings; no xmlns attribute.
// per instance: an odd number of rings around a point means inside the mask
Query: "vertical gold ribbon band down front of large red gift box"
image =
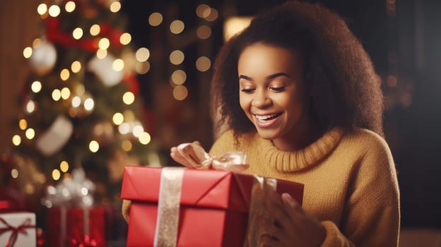
<svg viewBox="0 0 441 247"><path fill-rule="evenodd" d="M183 167L164 167L161 170L158 215L153 246L174 247L177 244Z"/></svg>

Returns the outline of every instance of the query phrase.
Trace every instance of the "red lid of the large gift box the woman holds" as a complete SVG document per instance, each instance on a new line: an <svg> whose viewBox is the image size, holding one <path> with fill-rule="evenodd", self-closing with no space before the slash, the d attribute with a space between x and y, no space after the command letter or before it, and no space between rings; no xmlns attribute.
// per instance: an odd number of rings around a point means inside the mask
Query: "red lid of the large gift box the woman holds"
<svg viewBox="0 0 441 247"><path fill-rule="evenodd" d="M121 198L157 203L161 167L124 168ZM180 205L215 207L242 212L249 210L254 176L225 170L184 169ZM302 203L303 184L277 181L276 191L290 193Z"/></svg>

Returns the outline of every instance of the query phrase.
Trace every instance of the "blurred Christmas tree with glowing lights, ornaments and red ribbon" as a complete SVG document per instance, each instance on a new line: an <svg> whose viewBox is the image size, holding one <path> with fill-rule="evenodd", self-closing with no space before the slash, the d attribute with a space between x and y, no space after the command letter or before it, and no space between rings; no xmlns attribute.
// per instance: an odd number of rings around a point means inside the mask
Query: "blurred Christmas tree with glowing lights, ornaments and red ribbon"
<svg viewBox="0 0 441 247"><path fill-rule="evenodd" d="M117 200L124 165L160 164L136 77L148 71L149 51L131 47L120 8L105 0L37 7L42 35L23 50L33 73L13 121L11 174L25 193L81 167L101 200Z"/></svg>

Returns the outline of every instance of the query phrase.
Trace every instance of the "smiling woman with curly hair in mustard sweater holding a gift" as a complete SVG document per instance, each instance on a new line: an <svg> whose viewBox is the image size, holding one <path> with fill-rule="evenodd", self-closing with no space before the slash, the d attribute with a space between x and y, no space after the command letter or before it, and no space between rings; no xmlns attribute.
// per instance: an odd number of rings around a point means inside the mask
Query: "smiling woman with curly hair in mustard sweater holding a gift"
<svg viewBox="0 0 441 247"><path fill-rule="evenodd" d="M220 49L211 87L212 109L229 129L210 155L245 152L243 172L305 185L301 207L271 193L271 217L259 219L247 246L397 246L382 92L340 16L299 1L264 11Z"/></svg>

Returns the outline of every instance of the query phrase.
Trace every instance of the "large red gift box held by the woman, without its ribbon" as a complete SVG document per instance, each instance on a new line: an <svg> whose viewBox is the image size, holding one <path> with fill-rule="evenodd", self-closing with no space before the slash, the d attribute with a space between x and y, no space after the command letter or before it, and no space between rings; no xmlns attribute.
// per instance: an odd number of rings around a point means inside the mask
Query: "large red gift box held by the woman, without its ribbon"
<svg viewBox="0 0 441 247"><path fill-rule="evenodd" d="M162 171L159 167L124 169L121 197L131 200L127 246L154 245ZM176 245L243 246L255 181L252 175L231 171L184 169ZM276 191L302 202L300 183L278 180Z"/></svg>

